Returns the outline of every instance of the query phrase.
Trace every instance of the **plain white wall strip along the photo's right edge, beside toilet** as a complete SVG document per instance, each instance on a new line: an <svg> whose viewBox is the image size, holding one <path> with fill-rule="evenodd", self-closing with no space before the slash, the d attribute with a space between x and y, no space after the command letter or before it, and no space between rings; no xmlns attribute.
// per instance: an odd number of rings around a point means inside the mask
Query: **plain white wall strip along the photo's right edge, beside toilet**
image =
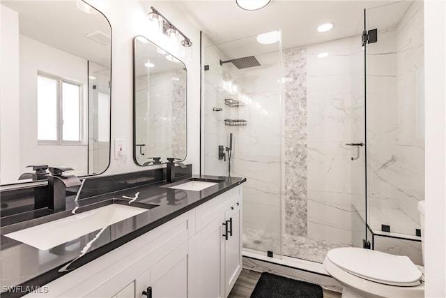
<svg viewBox="0 0 446 298"><path fill-rule="evenodd" d="M446 2L424 1L426 98L425 297L446 297Z"/></svg>

